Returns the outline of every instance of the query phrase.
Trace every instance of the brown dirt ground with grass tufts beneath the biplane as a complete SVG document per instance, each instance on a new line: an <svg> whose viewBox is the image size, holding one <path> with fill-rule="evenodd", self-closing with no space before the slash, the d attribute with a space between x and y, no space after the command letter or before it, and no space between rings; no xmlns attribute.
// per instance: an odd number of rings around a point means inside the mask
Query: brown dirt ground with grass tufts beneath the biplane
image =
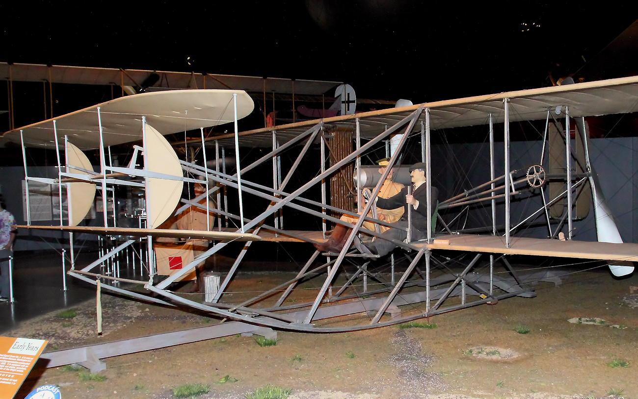
<svg viewBox="0 0 638 399"><path fill-rule="evenodd" d="M253 337L216 338L105 359L104 381L83 381L70 367L34 370L17 397L54 384L64 399L170 399L175 386L202 383L210 392L200 398L244 398L266 384L292 389L297 399L638 398L638 293L630 295L630 286L638 286L635 275L615 280L604 270L579 272L559 287L538 284L537 298L429 318L436 328L278 331L269 347ZM103 307L101 337L94 301L74 307L71 321L54 312L5 335L48 339L52 351L217 323L110 295ZM604 321L587 323L595 317ZM529 333L515 331L519 326ZM608 365L616 359L628 366Z"/></svg>

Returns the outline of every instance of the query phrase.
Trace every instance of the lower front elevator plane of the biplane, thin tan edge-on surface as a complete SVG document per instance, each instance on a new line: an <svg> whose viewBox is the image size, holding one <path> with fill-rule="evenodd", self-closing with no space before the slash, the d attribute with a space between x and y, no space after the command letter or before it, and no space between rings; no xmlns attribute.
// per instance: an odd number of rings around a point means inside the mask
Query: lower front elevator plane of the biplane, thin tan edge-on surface
<svg viewBox="0 0 638 399"><path fill-rule="evenodd" d="M19 229L38 229L49 231L68 231L70 233L88 233L97 235L122 235L122 236L154 236L170 238L186 238L192 240L219 240L219 241L256 241L261 237L252 233L230 233L228 231L203 231L203 230L170 230L170 229L135 229L115 227L91 227L91 226L15 226Z"/></svg>

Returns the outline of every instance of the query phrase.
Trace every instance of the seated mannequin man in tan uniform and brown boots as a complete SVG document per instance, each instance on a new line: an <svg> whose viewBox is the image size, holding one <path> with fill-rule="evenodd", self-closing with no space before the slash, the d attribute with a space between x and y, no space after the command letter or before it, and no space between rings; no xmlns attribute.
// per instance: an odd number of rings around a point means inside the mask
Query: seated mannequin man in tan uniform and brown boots
<svg viewBox="0 0 638 399"><path fill-rule="evenodd" d="M383 173L385 173L385 169L387 168L389 164L388 159L384 158L378 161L378 164L379 164L379 174L383 175ZM379 198L390 198L391 196L394 196L395 194L399 193L401 189L403 189L404 185L401 183L394 182L392 180L392 175L394 175L394 168L390 169L388 176L383 181L383 185L381 186L381 190L379 191L379 194L378 194ZM361 196L359 196L359 200L360 198ZM387 222L387 223L397 222L399 221L399 219L401 219L401 216L403 216L403 204L398 205L394 209L382 209L377 207L376 215L377 215L376 216L377 219L379 219L382 222ZM368 216L373 217L372 211L368 213ZM357 217L342 215L341 220L344 222L350 222L352 224L355 224L357 222ZM373 222L366 221L366 222L363 222L361 226L364 229L368 229L368 230L375 229L375 223ZM387 229L389 229L389 227L387 226L379 226L379 228L382 233L385 232ZM341 249L343 249L343 245L345 244L346 240L348 240L348 236L350 235L351 230L352 230L351 228L346 227L343 224L336 224L334 226L334 229L332 229L332 233L330 233L330 236L328 237L328 239L325 242L315 243L314 244L315 248L322 251L341 252Z"/></svg>

